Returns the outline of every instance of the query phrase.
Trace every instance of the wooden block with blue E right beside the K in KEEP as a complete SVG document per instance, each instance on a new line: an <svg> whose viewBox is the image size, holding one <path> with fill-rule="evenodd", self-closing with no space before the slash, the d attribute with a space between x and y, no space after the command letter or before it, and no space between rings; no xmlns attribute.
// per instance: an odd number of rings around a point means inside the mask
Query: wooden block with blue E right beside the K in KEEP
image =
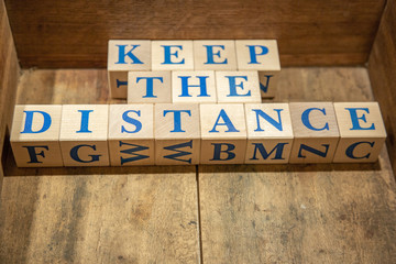
<svg viewBox="0 0 396 264"><path fill-rule="evenodd" d="M153 41L152 70L194 70L193 41Z"/></svg>

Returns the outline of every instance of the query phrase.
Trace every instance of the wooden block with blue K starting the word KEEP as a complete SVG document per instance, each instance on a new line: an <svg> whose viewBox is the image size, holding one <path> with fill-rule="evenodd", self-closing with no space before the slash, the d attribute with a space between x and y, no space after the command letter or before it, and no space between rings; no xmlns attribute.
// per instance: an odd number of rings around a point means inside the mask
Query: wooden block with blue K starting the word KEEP
<svg viewBox="0 0 396 264"><path fill-rule="evenodd" d="M108 79L112 98L127 98L130 70L151 70L151 41L109 41Z"/></svg>

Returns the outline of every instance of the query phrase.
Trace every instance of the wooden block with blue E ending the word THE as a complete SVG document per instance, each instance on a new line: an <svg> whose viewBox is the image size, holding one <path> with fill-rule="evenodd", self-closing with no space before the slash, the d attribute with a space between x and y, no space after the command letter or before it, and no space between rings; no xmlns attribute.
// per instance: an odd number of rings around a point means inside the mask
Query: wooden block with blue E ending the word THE
<svg viewBox="0 0 396 264"><path fill-rule="evenodd" d="M216 72L218 102L261 102L257 72Z"/></svg>

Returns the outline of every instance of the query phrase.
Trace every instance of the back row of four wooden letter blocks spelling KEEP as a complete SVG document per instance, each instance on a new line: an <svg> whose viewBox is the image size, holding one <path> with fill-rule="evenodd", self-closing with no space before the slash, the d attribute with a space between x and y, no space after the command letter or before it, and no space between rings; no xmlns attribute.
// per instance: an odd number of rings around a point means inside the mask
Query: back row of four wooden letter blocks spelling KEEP
<svg viewBox="0 0 396 264"><path fill-rule="evenodd" d="M275 40L110 40L108 79L112 98L127 98L128 72L255 70L271 98L280 70Z"/></svg>

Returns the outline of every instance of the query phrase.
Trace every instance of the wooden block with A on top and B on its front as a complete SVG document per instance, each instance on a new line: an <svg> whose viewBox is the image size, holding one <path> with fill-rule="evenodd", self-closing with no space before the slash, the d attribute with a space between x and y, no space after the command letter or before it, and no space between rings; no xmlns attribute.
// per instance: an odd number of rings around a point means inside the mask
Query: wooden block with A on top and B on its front
<svg viewBox="0 0 396 264"><path fill-rule="evenodd" d="M244 107L200 105L201 164L243 164L246 153Z"/></svg>

